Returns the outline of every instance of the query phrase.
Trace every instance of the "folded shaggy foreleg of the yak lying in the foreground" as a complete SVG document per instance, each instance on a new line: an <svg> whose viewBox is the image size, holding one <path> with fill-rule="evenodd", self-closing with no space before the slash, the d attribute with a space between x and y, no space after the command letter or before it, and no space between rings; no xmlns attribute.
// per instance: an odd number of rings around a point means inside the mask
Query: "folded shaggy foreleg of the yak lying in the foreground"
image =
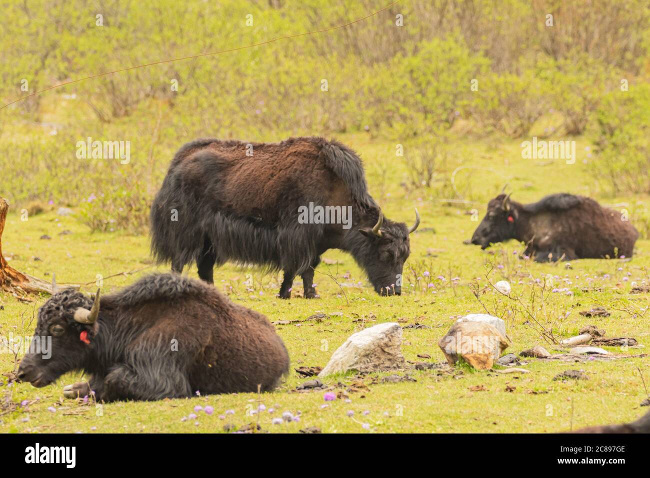
<svg viewBox="0 0 650 478"><path fill-rule="evenodd" d="M190 397L190 384L179 371L159 367L166 360L151 363L142 371L134 371L127 365L114 367L104 380L104 390L98 399L115 400L161 400L164 398ZM99 395L99 394L98 394Z"/></svg>

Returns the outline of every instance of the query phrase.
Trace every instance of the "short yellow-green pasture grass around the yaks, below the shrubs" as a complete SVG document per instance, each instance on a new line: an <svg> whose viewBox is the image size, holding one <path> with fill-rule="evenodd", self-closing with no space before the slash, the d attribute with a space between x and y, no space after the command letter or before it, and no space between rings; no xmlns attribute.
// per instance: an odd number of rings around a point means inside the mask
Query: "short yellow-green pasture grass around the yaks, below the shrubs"
<svg viewBox="0 0 650 478"><path fill-rule="evenodd" d="M452 323L466 313L486 309L506 321L512 341L506 352L517 353L534 345L561 352L561 347L541 338L542 327L561 339L593 324L604 328L607 337L638 340L640 347L610 347L614 354L642 354L650 341L648 297L629 294L633 282L649 281L647 239L638 241L632 260L573 261L571 269L565 263L540 265L520 259L523 248L512 242L486 251L463 245L478 224L471 209L478 209L480 220L486 200L499 193L504 183L510 184L513 199L521 202L562 191L594 194L586 173L590 155L585 140L577 141L578 158L573 165L522 159L519 141L459 142L453 148L448 172L439 181L448 181L456 166L467 166L456 175L457 185L462 186L465 198L481 204L449 206L441 202L442 196L421 196L421 192L400 185L407 177L406 166L395 157L394 142L363 134L339 135L338 139L361 154L370 192L388 217L412 223L413 207L421 213L420 230L411 235L411 256L404 269L406 292L401 297L378 297L352 258L335 250L324 255L326 260L317 269L320 298L315 300L300 297L300 278L292 299L283 301L275 297L279 276L227 265L215 271L216 287L232 300L265 313L270 321L290 322L276 325L291 356L291 373L276 392L96 407L62 399L62 386L79 381L78 375L66 375L40 389L7 384L3 376L0 431L223 432L259 423L269 432L297 432L306 427L319 427L322 432L556 432L630 421L647 410L640 407L647 397L640 373L650 382L647 357L580 363L528 359L523 365L530 371L527 374L478 372L466 367L408 369L396 375L408 375L415 381L397 383L382 382L389 373L329 377L324 383L341 393L339 399L328 402L322 391L297 392L296 386L309 378L301 377L294 368L323 367L350 334L382 322L425 325L404 328L402 351L410 362L437 364L444 362L437 341ZM639 196L604 198L601 203L640 209L643 200L647 204L647 198ZM55 204L27 221L21 220L18 211L10 213L3 250L12 267L46 280L55 272L57 282L83 284L86 292L94 291L98 274L103 276L104 290L110 291L158 269L151 264L146 235L90 233L74 215L57 216L59 206ZM40 239L44 234L51 240ZM186 273L196 276L195 270ZM521 300L496 294L487 287L488 278L491 282L509 280L515 297ZM480 302L472 287L481 291ZM564 288L570 293L551 292ZM531 294L538 296L542 290L542 299L531 304ZM0 335L31 335L36 308L45 300L47 297L36 297L33 302L22 302L0 295ZM612 312L610 317L578 314L600 304ZM325 313L326 318L305 320L317 312ZM15 366L12 354L0 354L0 374ZM582 370L589 379L553 380L569 369ZM194 412L196 406L207 405L213 406L214 414ZM258 408L262 408L259 413L251 413ZM291 412L299 420L273 425L272 418L283 412ZM197 417L187 419L192 413Z"/></svg>

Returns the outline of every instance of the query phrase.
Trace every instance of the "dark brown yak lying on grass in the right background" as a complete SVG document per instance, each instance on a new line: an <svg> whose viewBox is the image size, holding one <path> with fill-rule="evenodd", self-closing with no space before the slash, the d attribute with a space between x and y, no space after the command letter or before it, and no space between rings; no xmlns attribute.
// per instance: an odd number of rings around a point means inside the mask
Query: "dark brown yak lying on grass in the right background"
<svg viewBox="0 0 650 478"><path fill-rule="evenodd" d="M485 249L516 239L525 254L538 262L630 257L639 234L613 209L591 198L551 194L532 204L500 194L487 205L486 217L476 228L472 244Z"/></svg>

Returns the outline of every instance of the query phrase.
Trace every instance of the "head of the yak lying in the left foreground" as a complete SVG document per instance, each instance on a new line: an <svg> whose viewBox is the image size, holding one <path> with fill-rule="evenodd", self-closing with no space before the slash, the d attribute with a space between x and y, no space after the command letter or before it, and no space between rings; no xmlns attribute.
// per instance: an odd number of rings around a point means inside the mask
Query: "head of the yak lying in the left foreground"
<svg viewBox="0 0 650 478"><path fill-rule="evenodd" d="M90 360L98 316L99 290L94 301L72 289L55 292L38 310L36 331L20 361L18 378L44 387L68 371L83 369Z"/></svg>

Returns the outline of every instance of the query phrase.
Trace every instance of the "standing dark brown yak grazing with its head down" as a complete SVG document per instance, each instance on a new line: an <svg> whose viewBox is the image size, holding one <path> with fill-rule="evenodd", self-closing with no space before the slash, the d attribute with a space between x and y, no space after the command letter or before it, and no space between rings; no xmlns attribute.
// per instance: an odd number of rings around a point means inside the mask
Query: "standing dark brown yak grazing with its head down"
<svg viewBox="0 0 650 478"><path fill-rule="evenodd" d="M361 159L317 137L279 143L200 139L174 156L151 207L151 250L172 270L196 263L213 283L214 264L235 261L284 271L279 297L314 270L330 248L346 250L379 294L399 295L408 228L383 217L368 193Z"/></svg>

